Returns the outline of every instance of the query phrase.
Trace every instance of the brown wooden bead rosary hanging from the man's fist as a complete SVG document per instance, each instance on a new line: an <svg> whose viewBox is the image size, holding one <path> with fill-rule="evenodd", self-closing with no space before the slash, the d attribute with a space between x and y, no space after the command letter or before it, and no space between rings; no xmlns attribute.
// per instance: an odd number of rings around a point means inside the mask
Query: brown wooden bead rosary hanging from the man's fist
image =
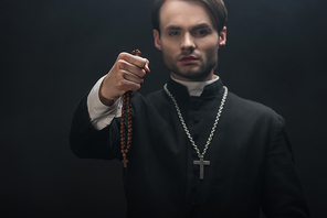
<svg viewBox="0 0 327 218"><path fill-rule="evenodd" d="M133 55L140 56L141 52L135 50L131 52ZM147 70L147 69L146 69ZM127 91L123 96L123 108L122 108L122 121L120 121L120 145L123 154L124 168L127 168L127 153L131 145L131 91Z"/></svg>

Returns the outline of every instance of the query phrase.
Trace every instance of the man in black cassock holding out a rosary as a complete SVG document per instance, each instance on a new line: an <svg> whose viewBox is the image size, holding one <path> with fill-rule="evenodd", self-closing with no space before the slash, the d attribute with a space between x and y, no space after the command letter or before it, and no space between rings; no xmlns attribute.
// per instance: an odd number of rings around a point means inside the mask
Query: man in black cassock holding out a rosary
<svg viewBox="0 0 327 218"><path fill-rule="evenodd" d="M80 157L119 159L122 96L131 90L127 217L309 217L284 120L231 92L215 76L226 42L222 0L156 0L155 46L171 78L137 94L146 58L119 54L73 119ZM126 162L124 162L126 164Z"/></svg>

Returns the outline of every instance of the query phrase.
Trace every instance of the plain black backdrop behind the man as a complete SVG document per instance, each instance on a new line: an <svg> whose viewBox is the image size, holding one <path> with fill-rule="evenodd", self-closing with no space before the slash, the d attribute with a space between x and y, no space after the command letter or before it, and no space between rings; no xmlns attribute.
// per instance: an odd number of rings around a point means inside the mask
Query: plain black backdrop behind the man
<svg viewBox="0 0 327 218"><path fill-rule="evenodd" d="M118 161L80 160L73 111L122 51L140 48L167 80L149 20L151 0L1 0L1 217L124 217ZM327 217L325 0L225 0L219 76L282 115L312 217ZM6 215L6 216L3 216Z"/></svg>

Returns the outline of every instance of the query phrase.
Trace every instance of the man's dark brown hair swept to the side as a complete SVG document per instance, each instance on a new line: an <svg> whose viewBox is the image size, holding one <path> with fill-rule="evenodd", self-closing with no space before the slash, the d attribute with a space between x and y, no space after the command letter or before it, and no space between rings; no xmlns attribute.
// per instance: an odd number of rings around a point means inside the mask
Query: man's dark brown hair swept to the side
<svg viewBox="0 0 327 218"><path fill-rule="evenodd" d="M226 23L228 10L223 0L182 0L196 1L202 3L210 12L212 23L218 32L220 32ZM151 9L151 22L155 30L160 33L160 9L166 0L155 0Z"/></svg>

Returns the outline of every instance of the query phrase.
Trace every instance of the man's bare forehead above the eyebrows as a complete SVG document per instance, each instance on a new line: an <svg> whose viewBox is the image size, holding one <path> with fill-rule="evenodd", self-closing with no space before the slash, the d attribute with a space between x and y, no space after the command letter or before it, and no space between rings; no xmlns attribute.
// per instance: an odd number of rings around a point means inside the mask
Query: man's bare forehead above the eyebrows
<svg viewBox="0 0 327 218"><path fill-rule="evenodd" d="M191 28L200 23L207 23L212 26L209 14L209 11L200 2L167 0L160 9L160 29L165 30L169 25Z"/></svg>

